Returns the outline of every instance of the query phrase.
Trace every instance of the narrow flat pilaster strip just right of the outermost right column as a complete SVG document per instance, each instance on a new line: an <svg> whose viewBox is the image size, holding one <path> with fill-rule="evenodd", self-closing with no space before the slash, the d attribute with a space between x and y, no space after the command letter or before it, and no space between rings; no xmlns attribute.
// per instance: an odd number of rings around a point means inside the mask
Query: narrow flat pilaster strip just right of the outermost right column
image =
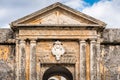
<svg viewBox="0 0 120 80"><path fill-rule="evenodd" d="M97 80L101 80L100 74L100 40L97 40Z"/></svg>

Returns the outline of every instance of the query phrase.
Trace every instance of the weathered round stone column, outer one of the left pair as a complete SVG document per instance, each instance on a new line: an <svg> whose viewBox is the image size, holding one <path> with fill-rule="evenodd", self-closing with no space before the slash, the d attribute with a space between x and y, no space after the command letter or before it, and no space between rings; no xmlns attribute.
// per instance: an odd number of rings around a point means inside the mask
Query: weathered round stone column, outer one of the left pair
<svg viewBox="0 0 120 80"><path fill-rule="evenodd" d="M24 40L20 40L20 44L19 44L19 80L25 80L26 79L26 75L25 75L25 65L26 65L26 51L25 51L25 41Z"/></svg>

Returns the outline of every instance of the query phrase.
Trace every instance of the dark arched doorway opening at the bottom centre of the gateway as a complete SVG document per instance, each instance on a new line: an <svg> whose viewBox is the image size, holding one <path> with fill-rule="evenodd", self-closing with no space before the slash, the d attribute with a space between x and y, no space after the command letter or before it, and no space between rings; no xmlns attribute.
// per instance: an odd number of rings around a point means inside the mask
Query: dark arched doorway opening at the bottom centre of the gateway
<svg viewBox="0 0 120 80"><path fill-rule="evenodd" d="M58 80L73 80L72 73L62 66L52 66L47 69L43 74L42 80L57 80L54 79L56 77L60 77Z"/></svg>

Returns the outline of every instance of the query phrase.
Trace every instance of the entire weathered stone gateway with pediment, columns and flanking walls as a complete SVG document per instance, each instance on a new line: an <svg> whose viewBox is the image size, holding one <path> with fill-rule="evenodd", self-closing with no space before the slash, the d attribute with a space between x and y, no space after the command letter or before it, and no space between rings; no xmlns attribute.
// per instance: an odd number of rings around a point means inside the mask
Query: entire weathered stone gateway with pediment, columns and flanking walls
<svg viewBox="0 0 120 80"><path fill-rule="evenodd" d="M120 30L59 2L0 29L0 80L120 80Z"/></svg>

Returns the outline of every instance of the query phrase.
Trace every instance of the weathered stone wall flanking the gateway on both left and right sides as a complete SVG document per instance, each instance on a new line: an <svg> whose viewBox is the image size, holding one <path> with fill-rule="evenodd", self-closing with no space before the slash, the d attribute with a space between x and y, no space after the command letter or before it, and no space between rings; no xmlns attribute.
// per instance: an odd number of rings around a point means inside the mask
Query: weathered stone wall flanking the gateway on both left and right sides
<svg viewBox="0 0 120 80"><path fill-rule="evenodd" d="M15 79L15 36L10 29L0 29L0 79ZM105 29L102 33L100 70L102 80L120 80L120 29Z"/></svg>

